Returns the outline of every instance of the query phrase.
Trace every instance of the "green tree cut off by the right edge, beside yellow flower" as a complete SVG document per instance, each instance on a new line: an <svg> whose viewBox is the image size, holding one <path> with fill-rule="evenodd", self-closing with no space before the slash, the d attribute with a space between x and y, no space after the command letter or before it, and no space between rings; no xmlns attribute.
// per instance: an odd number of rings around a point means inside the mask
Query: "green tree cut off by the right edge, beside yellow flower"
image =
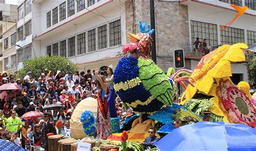
<svg viewBox="0 0 256 151"><path fill-rule="evenodd" d="M250 84L256 86L256 57L254 56L247 64L247 72Z"/></svg>

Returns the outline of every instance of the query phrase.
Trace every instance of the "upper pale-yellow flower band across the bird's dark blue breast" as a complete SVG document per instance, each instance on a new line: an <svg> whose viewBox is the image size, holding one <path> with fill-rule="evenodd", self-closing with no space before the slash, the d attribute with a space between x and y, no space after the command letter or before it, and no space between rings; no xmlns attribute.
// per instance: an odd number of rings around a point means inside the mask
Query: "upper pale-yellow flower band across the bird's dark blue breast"
<svg viewBox="0 0 256 151"><path fill-rule="evenodd" d="M128 80L128 81L125 81L124 83L123 82L120 82L118 84L114 84L114 90L116 91L119 91L119 90L128 90L129 88L133 88L137 85L139 85L142 81L140 81L139 77L136 77L134 79L131 79L131 80Z"/></svg>

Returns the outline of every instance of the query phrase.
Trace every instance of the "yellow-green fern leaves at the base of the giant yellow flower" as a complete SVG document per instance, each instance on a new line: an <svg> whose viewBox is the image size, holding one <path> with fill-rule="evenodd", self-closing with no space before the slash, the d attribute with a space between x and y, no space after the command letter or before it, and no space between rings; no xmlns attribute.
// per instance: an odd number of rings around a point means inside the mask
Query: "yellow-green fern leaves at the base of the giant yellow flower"
<svg viewBox="0 0 256 151"><path fill-rule="evenodd" d="M208 108L212 105L213 102L210 99L200 98L188 100L184 107L199 115L201 112L208 111Z"/></svg>

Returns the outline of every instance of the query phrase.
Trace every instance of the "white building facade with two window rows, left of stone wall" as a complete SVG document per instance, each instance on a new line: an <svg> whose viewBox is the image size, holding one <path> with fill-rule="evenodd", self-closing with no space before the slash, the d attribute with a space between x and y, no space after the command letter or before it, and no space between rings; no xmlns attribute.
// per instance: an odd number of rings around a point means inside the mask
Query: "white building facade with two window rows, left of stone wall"
<svg viewBox="0 0 256 151"><path fill-rule="evenodd" d="M111 0L33 1L35 53L68 57L81 71L116 66L126 40L124 8Z"/></svg>

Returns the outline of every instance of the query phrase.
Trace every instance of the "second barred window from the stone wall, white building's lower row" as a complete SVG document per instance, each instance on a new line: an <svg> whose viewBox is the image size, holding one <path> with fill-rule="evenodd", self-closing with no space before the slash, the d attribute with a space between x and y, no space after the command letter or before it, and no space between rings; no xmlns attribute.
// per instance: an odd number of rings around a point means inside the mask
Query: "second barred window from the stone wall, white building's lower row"
<svg viewBox="0 0 256 151"><path fill-rule="evenodd" d="M107 25L98 28L98 45L99 49L107 47Z"/></svg>

